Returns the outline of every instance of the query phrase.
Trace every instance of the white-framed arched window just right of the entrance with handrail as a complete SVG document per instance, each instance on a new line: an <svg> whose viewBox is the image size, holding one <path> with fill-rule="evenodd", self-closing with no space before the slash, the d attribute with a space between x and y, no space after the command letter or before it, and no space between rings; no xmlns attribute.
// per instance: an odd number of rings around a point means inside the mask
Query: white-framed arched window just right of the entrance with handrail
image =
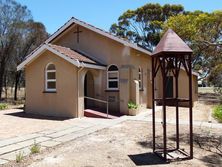
<svg viewBox="0 0 222 167"><path fill-rule="evenodd" d="M111 65L107 71L107 89L118 90L119 89L119 71L117 66Z"/></svg>

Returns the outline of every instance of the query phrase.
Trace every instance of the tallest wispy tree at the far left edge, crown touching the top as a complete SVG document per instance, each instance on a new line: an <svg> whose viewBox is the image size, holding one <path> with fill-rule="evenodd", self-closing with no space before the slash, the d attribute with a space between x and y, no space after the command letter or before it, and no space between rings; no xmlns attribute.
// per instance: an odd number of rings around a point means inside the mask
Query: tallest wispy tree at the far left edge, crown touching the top
<svg viewBox="0 0 222 167"><path fill-rule="evenodd" d="M19 30L17 25L30 20L31 14L26 6L14 0L0 0L0 100L7 64L16 48Z"/></svg>

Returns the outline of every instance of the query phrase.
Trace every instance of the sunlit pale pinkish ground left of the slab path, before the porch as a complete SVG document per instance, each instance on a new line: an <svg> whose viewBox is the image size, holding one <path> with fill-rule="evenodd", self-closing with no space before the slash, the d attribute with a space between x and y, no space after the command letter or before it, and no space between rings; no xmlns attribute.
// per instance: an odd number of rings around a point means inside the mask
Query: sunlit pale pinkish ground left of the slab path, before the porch
<svg viewBox="0 0 222 167"><path fill-rule="evenodd" d="M79 121L79 119L56 119L53 117L25 114L22 109L0 110L0 118L0 140L71 126Z"/></svg>

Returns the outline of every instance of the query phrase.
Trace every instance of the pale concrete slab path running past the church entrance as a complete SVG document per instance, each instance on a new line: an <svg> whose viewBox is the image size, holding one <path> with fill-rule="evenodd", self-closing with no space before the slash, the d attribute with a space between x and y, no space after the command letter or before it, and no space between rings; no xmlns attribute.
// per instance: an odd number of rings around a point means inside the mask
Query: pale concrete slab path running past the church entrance
<svg viewBox="0 0 222 167"><path fill-rule="evenodd" d="M15 160L16 155L19 154L19 152L21 152L24 156L29 155L31 153L30 148L34 143L39 144L41 146L41 150L44 150L45 148L54 147L65 142L72 141L78 137L114 126L127 120L151 122L151 110L147 110L137 116L122 116L117 119L77 118L73 125L61 126L60 128L0 140L0 165ZM161 121L161 119L156 119L156 122L161 123ZM175 121L167 120L167 123L175 124ZM180 124L188 124L188 122L180 121ZM197 121L193 124L194 126L222 129L222 124Z"/></svg>

